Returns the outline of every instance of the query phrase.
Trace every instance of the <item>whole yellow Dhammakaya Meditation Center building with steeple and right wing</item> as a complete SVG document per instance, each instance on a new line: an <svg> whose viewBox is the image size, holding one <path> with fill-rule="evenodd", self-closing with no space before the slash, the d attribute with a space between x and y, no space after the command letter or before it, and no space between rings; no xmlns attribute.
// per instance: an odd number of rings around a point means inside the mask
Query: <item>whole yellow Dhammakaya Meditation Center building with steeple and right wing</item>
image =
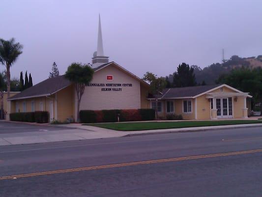
<svg viewBox="0 0 262 197"><path fill-rule="evenodd" d="M248 93L226 84L169 88L148 98L149 84L104 55L99 17L97 50L92 57L93 79L85 88L80 110L153 108L157 116L183 119L247 118ZM64 75L46 79L9 99L10 113L48 111L50 122L77 117L74 84Z"/></svg>

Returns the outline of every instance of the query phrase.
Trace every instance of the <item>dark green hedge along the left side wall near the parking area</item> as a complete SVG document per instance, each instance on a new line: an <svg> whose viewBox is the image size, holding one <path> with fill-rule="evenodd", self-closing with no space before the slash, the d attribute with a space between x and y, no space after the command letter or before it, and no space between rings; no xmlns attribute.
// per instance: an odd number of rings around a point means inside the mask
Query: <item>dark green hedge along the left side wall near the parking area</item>
<svg viewBox="0 0 262 197"><path fill-rule="evenodd" d="M30 122L30 123L48 123L49 113L47 111L35 111L35 112L18 112L11 113L11 121Z"/></svg>

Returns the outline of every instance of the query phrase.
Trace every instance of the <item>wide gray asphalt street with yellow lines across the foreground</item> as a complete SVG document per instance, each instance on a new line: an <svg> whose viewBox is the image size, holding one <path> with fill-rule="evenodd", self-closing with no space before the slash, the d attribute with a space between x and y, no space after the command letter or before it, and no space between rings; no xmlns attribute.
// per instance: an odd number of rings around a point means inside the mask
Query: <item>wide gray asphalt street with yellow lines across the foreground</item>
<svg viewBox="0 0 262 197"><path fill-rule="evenodd" d="M262 128L1 146L0 197L25 196L261 197Z"/></svg>

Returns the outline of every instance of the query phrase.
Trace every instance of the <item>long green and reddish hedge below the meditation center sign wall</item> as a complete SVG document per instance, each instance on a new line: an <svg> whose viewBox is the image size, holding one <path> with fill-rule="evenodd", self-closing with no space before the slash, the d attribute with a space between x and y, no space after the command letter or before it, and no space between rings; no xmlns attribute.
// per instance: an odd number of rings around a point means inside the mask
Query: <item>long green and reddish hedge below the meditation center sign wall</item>
<svg viewBox="0 0 262 197"><path fill-rule="evenodd" d="M82 123L109 123L125 121L150 121L155 119L154 109L81 110Z"/></svg>

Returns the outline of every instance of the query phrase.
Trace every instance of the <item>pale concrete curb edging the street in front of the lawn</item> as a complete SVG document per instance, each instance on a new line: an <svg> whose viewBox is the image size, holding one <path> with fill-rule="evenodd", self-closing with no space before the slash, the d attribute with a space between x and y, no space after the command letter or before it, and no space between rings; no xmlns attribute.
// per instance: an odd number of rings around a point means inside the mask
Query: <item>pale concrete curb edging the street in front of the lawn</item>
<svg viewBox="0 0 262 197"><path fill-rule="evenodd" d="M151 134L163 134L163 133L180 133L180 132L199 132L199 131L217 131L217 130L228 130L228 129L243 129L243 128L256 128L262 127L258 125L251 125L251 126L243 126L243 127L227 127L227 128L210 128L210 129L192 129L192 130L182 130L182 131L156 131L156 132L144 132L144 133L130 133L124 135L122 137L131 137L131 136L139 136L139 135L151 135Z"/></svg>

